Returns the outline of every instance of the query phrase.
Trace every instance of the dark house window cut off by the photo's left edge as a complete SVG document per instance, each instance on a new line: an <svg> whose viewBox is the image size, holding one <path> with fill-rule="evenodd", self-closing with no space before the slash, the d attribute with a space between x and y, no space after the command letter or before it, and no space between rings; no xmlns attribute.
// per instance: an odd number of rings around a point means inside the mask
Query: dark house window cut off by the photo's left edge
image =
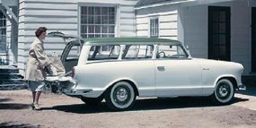
<svg viewBox="0 0 256 128"><path fill-rule="evenodd" d="M0 11L0 53L4 53L6 51L6 18L4 13Z"/></svg>

